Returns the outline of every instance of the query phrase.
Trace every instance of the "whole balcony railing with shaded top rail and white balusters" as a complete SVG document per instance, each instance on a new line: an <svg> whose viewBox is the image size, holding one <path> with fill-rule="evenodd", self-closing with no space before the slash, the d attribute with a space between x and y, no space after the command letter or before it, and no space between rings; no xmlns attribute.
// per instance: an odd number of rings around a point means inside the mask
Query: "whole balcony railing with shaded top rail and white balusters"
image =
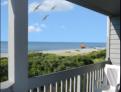
<svg viewBox="0 0 121 92"><path fill-rule="evenodd" d="M28 81L29 92L97 92L107 83L104 74L106 63L32 77Z"/></svg>

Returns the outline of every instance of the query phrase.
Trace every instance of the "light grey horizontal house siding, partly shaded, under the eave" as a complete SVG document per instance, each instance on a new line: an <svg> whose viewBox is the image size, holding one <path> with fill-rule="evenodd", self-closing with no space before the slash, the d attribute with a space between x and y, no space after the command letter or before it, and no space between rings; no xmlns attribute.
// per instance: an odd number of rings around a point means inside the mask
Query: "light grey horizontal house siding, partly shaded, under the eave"
<svg viewBox="0 0 121 92"><path fill-rule="evenodd" d="M109 57L112 64L120 64L120 17L110 17Z"/></svg>

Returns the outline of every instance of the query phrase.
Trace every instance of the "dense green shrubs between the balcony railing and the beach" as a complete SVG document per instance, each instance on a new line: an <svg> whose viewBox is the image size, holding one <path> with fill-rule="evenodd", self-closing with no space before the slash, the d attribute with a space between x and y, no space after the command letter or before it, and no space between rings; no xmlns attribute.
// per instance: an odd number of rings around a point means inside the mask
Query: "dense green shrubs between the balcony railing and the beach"
<svg viewBox="0 0 121 92"><path fill-rule="evenodd" d="M94 51L86 55L57 56L55 54L31 53L29 58L29 77L67 70L82 65L104 61L105 50ZM7 58L0 58L0 80L7 80Z"/></svg>

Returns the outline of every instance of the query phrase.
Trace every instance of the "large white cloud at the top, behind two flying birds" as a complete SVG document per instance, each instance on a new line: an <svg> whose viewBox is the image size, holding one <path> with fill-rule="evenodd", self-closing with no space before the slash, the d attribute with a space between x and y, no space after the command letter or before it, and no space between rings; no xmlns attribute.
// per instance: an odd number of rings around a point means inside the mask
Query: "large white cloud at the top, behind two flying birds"
<svg viewBox="0 0 121 92"><path fill-rule="evenodd" d="M29 5L29 12L33 12L37 5L39 2L32 2ZM66 0L44 0L36 12L50 12L54 6L53 11L67 11L74 8L74 4Z"/></svg>

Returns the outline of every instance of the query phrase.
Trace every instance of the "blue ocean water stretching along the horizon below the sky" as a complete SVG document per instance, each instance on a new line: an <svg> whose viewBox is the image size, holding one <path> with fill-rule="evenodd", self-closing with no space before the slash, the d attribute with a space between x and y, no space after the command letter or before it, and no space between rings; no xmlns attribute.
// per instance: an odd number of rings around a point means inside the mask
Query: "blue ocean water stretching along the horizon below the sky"
<svg viewBox="0 0 121 92"><path fill-rule="evenodd" d="M64 49L80 49L81 42L29 42L28 51L48 51L48 50L64 50ZM105 48L105 43L84 43L87 48ZM8 52L8 43L1 42L1 53Z"/></svg>

